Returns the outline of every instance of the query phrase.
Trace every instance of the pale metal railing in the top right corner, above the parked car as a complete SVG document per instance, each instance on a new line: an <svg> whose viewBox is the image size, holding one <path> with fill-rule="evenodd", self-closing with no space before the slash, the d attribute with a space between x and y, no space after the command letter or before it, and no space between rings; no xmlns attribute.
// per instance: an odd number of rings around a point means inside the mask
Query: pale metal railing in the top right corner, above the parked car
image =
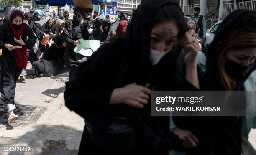
<svg viewBox="0 0 256 155"><path fill-rule="evenodd" d="M256 11L256 0L246 2L237 2L236 0L223 0L223 17L228 16L230 13L237 9Z"/></svg>

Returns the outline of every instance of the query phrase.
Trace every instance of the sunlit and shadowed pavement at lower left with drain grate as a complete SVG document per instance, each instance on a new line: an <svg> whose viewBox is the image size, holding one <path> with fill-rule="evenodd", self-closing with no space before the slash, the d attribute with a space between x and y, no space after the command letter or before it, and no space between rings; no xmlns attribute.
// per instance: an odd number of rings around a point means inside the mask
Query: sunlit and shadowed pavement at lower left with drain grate
<svg viewBox="0 0 256 155"><path fill-rule="evenodd" d="M0 111L0 147L30 146L33 155L77 154L84 119L65 107L63 94L67 77L25 77L25 84L17 82L15 114L19 119L15 125L7 125L6 107ZM53 101L44 102L48 97ZM5 154L8 153L0 152Z"/></svg>

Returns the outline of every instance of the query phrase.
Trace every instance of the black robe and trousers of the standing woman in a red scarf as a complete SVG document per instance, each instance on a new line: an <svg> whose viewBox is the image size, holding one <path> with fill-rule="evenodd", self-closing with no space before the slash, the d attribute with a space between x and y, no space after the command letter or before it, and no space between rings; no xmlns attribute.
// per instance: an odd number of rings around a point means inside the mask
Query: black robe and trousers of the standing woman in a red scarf
<svg viewBox="0 0 256 155"><path fill-rule="evenodd" d="M29 37L29 39L28 41L25 41L27 36ZM7 48L4 47L4 45L7 43L13 45L15 43L13 38L14 34L10 28L9 23L4 23L2 26L0 26L0 48L2 49L0 86L1 104L15 104L14 95L16 81L23 69L22 67L16 66L14 53L15 51L9 51ZM25 26L21 38L24 43L26 43L26 47L29 49L32 49L36 43L36 36L28 25Z"/></svg>

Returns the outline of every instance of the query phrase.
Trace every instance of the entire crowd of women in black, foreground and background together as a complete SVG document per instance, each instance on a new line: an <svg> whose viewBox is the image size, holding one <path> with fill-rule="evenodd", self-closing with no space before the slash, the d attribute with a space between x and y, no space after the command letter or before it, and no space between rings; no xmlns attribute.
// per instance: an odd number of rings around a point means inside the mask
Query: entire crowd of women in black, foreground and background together
<svg viewBox="0 0 256 155"><path fill-rule="evenodd" d="M70 70L65 103L86 123L79 155L253 155L254 117L151 116L152 90L256 91L256 12L235 10L204 49L199 31L174 0L143 0L116 30L101 16L38 27L31 13L13 11L0 26L0 104L15 122L15 82L29 50L37 76ZM44 36L53 41L41 45ZM100 40L90 58L74 52L81 38Z"/></svg>

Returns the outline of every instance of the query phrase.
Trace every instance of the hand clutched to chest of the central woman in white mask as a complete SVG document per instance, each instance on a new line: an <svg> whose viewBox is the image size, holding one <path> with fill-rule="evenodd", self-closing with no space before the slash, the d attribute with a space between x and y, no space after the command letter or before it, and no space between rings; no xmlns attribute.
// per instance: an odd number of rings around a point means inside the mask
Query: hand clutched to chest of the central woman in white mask
<svg viewBox="0 0 256 155"><path fill-rule="evenodd" d="M114 89L110 97L110 105L124 103L131 107L143 108L148 104L149 94L151 90L147 87L136 83L128 84L123 88Z"/></svg>

